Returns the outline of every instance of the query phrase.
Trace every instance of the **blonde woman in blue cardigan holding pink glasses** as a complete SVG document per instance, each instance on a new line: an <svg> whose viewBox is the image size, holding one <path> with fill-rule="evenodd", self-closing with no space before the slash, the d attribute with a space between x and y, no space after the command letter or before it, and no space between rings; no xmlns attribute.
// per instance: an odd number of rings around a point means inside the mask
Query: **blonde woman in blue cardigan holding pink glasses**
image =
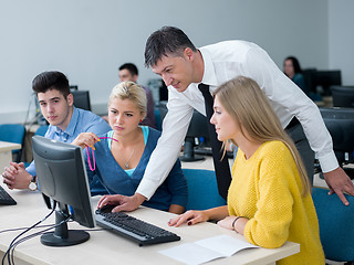
<svg viewBox="0 0 354 265"><path fill-rule="evenodd" d="M87 156L84 152L92 195L114 194L104 195L98 208L118 204L122 195L133 195L144 176L160 136L156 129L139 126L146 115L146 102L145 91L134 82L122 82L112 89L108 99L112 130L103 135L101 140L97 137L96 142L91 144L94 145L94 153ZM94 179L98 179L101 183L97 186L97 182L92 182ZM102 191L102 187L105 191ZM144 205L183 213L187 197L186 178L180 161L175 159L168 177Z"/></svg>

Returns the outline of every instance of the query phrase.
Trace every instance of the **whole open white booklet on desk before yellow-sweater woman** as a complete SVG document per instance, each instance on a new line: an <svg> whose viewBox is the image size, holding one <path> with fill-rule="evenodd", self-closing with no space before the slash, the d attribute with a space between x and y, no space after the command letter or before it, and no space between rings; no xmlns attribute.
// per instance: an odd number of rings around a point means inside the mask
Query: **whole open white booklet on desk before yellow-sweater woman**
<svg viewBox="0 0 354 265"><path fill-rule="evenodd" d="M159 253L188 265L198 265L216 258L232 256L235 253L249 247L259 246L230 235L218 235L159 251Z"/></svg>

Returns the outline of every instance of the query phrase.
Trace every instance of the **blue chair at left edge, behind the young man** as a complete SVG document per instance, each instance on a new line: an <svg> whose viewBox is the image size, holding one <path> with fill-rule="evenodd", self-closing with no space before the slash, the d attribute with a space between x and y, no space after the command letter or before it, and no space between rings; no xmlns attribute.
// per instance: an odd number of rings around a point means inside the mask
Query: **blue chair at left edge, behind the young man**
<svg viewBox="0 0 354 265"><path fill-rule="evenodd" d="M20 144L23 148L25 136L25 127L19 124L2 124L0 125L0 140ZM22 148L12 150L13 161L20 162Z"/></svg>

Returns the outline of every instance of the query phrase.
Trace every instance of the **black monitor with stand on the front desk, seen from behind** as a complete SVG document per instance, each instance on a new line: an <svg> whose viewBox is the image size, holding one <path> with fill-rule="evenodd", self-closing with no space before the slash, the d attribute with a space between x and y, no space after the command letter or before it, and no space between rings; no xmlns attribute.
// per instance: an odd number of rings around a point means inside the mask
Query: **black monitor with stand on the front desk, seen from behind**
<svg viewBox="0 0 354 265"><path fill-rule="evenodd" d="M66 224L70 218L83 226L95 226L81 147L34 136L32 149L39 188L44 198L56 202L58 226L41 236L42 244L66 246L87 241L87 232L67 230ZM53 203L49 206L53 208Z"/></svg>

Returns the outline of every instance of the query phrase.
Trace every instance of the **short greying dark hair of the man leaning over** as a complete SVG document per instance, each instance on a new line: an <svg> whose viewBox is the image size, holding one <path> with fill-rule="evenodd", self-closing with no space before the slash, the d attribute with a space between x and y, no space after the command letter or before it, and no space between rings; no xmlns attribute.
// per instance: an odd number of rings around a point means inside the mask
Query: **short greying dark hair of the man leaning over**
<svg viewBox="0 0 354 265"><path fill-rule="evenodd" d="M168 54L183 56L186 47L190 47L194 52L197 51L185 32L175 26L163 26L146 41L145 66L156 65L158 60Z"/></svg>

